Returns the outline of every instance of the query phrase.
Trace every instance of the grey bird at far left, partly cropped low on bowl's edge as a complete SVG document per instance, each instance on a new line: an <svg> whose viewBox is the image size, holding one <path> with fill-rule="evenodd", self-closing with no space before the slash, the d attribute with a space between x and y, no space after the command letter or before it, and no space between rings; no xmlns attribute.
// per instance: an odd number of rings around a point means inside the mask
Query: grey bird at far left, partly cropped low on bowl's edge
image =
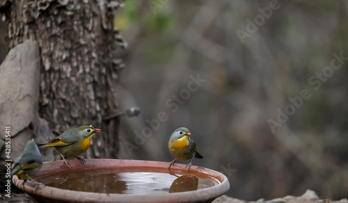
<svg viewBox="0 0 348 203"><path fill-rule="evenodd" d="M40 171L41 166L42 156L39 148L33 140L29 140L22 154L15 159L11 168L11 177L16 174L20 179L32 179L31 177Z"/></svg>

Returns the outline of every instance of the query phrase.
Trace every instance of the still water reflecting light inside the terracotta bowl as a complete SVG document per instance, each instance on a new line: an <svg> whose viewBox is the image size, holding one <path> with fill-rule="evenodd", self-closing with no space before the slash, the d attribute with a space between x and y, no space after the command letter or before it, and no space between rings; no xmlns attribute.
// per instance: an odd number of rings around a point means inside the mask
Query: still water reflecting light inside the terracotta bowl
<svg viewBox="0 0 348 203"><path fill-rule="evenodd" d="M183 172L125 172L120 170L71 170L37 177L47 186L90 193L150 195L200 190L220 184L208 174Z"/></svg>

